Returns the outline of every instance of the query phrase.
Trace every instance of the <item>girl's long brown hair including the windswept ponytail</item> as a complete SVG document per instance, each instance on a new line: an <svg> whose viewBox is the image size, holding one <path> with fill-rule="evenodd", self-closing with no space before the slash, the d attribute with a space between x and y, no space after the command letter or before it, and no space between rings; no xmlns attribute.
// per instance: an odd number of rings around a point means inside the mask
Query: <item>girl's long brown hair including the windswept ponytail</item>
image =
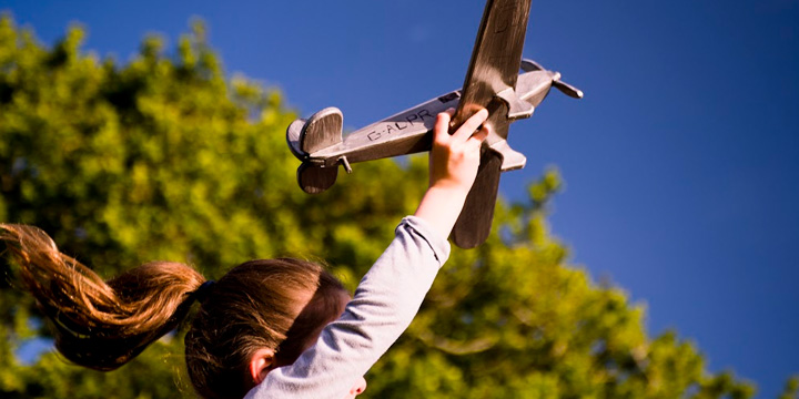
<svg viewBox="0 0 799 399"><path fill-rule="evenodd" d="M19 266L22 288L53 321L57 349L97 370L119 368L173 330L206 282L191 266L171 262L103 280L32 226L0 224L0 241ZM312 262L262 259L234 267L203 293L185 336L194 389L205 398L242 398L255 386L247 371L253 354L270 348L282 364L293 362L296 348L341 311L332 298L342 291ZM293 326L301 313L302 323Z"/></svg>

